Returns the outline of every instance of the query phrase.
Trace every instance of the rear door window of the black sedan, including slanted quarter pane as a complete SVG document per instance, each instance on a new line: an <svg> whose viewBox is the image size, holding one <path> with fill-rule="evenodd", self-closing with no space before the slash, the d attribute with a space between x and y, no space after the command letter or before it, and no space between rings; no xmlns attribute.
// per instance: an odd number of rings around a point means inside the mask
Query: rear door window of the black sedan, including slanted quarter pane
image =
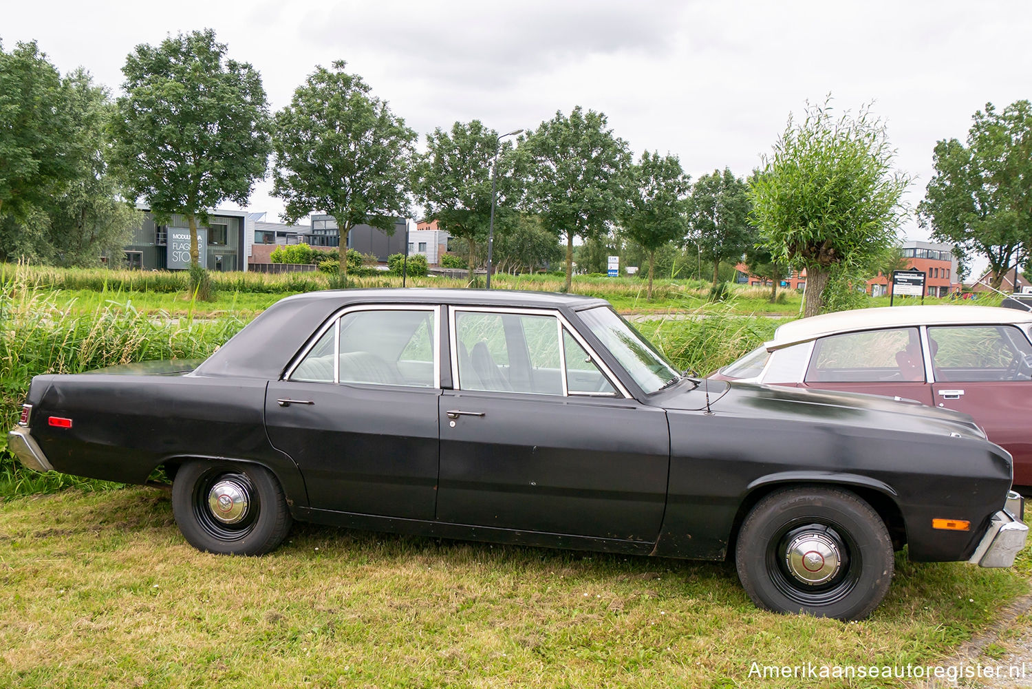
<svg viewBox="0 0 1032 689"><path fill-rule="evenodd" d="M290 379L434 387L433 333L429 309L351 311L320 337Z"/></svg>

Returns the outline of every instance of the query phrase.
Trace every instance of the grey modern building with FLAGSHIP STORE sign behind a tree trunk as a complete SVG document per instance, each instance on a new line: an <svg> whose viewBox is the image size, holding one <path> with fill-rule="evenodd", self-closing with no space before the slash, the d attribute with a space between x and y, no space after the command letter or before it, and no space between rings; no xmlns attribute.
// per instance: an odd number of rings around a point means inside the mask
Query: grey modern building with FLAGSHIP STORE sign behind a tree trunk
<svg viewBox="0 0 1032 689"><path fill-rule="evenodd" d="M126 262L135 270L186 270L190 268L190 226L186 216L174 214L158 223L146 206L143 222L125 247ZM244 211L209 211L207 222L197 219L200 264L209 271L247 271L254 232Z"/></svg>

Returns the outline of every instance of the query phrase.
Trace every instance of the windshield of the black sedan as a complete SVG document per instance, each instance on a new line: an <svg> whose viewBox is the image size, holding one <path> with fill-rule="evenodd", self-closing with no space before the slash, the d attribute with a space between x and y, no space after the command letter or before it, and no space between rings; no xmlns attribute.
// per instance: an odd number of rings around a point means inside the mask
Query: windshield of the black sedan
<svg viewBox="0 0 1032 689"><path fill-rule="evenodd" d="M579 315L646 394L655 393L680 379L681 376L663 354L612 308L601 306L581 311Z"/></svg>

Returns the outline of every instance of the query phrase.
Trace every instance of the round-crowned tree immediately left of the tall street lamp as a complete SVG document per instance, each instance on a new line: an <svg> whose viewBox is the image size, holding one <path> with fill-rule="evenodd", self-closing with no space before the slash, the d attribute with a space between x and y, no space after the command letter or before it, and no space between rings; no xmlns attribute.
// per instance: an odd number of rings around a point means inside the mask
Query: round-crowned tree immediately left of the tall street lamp
<svg viewBox="0 0 1032 689"><path fill-rule="evenodd" d="M480 120L456 122L451 132L440 127L426 135L426 153L419 156L413 188L427 218L462 240L469 251L470 280L477 265L478 244L486 241L491 213L491 165L498 147L498 132ZM512 196L513 146L502 144L496 171L495 241L514 225Z"/></svg>

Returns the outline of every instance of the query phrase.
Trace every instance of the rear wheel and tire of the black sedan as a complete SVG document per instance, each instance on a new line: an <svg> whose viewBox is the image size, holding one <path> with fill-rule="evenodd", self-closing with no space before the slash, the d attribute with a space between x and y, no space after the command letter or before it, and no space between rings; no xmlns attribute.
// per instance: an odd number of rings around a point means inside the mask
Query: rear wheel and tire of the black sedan
<svg viewBox="0 0 1032 689"><path fill-rule="evenodd" d="M191 545L220 555L268 553L291 525L280 482L253 464L184 464L172 482L172 513Z"/></svg>

